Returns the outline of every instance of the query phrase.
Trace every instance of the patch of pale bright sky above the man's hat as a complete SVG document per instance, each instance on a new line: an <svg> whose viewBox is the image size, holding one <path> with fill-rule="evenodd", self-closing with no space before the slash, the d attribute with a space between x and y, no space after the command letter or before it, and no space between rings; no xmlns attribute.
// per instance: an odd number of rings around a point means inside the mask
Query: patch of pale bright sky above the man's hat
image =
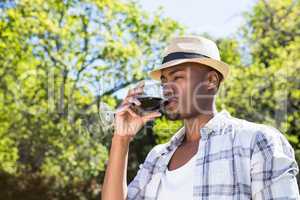
<svg viewBox="0 0 300 200"><path fill-rule="evenodd" d="M207 32L214 37L235 33L243 23L243 12L257 0L139 0L142 8L153 12L159 6L164 15L188 27L189 33Z"/></svg>

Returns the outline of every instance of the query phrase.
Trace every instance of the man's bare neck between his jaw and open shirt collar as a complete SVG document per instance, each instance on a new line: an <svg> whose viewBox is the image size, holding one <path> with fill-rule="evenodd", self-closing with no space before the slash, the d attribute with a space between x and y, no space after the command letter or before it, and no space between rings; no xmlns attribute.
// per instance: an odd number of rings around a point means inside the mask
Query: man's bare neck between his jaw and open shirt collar
<svg viewBox="0 0 300 200"><path fill-rule="evenodd" d="M195 143L200 140L200 128L212 119L216 114L216 111L210 111L205 114L197 115L196 117L184 119L185 126L185 138L184 143Z"/></svg>

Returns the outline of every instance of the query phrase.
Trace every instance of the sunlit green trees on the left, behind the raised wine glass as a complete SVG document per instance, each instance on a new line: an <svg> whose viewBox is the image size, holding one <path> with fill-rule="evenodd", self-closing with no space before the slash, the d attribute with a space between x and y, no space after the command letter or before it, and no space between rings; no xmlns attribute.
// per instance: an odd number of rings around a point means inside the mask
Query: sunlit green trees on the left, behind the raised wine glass
<svg viewBox="0 0 300 200"><path fill-rule="evenodd" d="M133 1L22 0L0 9L3 179L22 183L19 194L40 183L48 192L39 199L97 198L111 138L100 102L115 107L112 94L143 79L183 29Z"/></svg>

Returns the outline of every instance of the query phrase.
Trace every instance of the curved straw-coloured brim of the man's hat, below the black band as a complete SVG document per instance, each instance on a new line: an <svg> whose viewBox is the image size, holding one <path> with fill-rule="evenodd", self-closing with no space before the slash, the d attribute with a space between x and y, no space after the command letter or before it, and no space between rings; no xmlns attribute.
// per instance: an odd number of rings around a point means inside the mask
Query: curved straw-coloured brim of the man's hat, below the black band
<svg viewBox="0 0 300 200"><path fill-rule="evenodd" d="M182 63L199 63L203 65L207 65L217 71L219 71L223 75L223 81L227 79L229 75L229 66L219 60L215 60L212 58L189 58L189 59L177 59L161 65L158 69L155 69L149 72L149 76L154 80L160 80L161 70L169 67L173 67Z"/></svg>

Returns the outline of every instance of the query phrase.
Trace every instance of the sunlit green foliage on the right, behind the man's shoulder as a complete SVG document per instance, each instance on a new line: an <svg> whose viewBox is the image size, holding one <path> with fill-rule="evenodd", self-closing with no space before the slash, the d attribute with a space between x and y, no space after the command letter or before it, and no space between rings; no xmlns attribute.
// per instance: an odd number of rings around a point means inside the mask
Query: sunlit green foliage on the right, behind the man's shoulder
<svg viewBox="0 0 300 200"><path fill-rule="evenodd" d="M299 1L260 0L245 14L245 67L232 67L219 105L234 116L269 124L286 135L300 161ZM224 55L224 54L223 54Z"/></svg>

